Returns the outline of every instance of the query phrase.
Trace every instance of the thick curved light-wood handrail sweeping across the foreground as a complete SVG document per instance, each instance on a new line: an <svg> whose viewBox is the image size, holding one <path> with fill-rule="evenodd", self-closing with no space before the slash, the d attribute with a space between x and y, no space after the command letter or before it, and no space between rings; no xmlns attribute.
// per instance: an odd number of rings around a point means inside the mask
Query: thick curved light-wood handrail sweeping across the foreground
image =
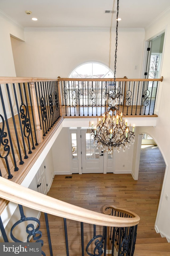
<svg viewBox="0 0 170 256"><path fill-rule="evenodd" d="M140 217L121 218L90 211L49 197L0 177L0 197L23 206L59 217L111 227L129 227L139 223Z"/></svg>

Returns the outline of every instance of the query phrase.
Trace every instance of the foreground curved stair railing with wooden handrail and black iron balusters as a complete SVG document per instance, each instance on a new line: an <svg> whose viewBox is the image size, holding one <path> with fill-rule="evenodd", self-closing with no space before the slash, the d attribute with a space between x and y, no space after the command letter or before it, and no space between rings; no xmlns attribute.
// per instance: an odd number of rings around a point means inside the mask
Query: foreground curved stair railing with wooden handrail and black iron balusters
<svg viewBox="0 0 170 256"><path fill-rule="evenodd" d="M53 246L56 248L55 244L52 244L50 239L51 226L50 226L50 223L48 222L48 214L62 217L64 220L63 226L64 226L64 233L65 233L65 249L66 249L67 256L69 255L76 256L76 255L80 255L80 253L82 254L82 256L84 256L85 248L86 248L86 253L90 256L97 256L97 255L105 256L107 254L107 227L112 228L113 230L119 227L120 228L119 237L122 236L121 235L122 230L125 231L126 237L124 235L124 239L122 240L119 239L119 242L121 242L119 255L133 256L133 250L131 250L130 254L128 254L128 251L127 250L125 251L125 247L128 246L129 248L129 245L127 245L127 243L131 241L130 240L131 238L129 239L127 238L127 234L128 234L127 229L129 230L129 234L131 235L130 230L135 229L135 227L137 226L140 220L139 216L135 213L125 211L126 214L130 213L130 216L131 216L131 217L125 217L125 218L106 215L103 213L97 213L94 211L83 209L75 205L71 205L69 203L60 201L58 199L49 197L47 195L35 192L31 189L22 187L21 185L18 185L2 177L0 177L0 197L4 198L5 200L19 204L20 219L18 219L18 221L12 225L11 231L10 231L10 239L12 239L12 241L14 242L24 242L24 241L16 238L15 235L13 234L13 230L20 223L31 221L31 223L29 223L26 226L26 233L27 233L26 241L40 242L41 245L43 246L43 235L41 232L40 221L35 217L34 218L26 217L24 215L23 206L41 211L45 214L46 232L48 234L49 249L47 250L46 247L42 247L42 255L44 256L45 255L52 256ZM76 221L76 223L78 223L76 224L76 230L78 230L77 235L81 236L81 239L79 242L80 251L77 251L77 247L76 247L75 253L74 253L74 245L70 244L70 242L73 243L74 241L73 235L71 236L71 241L70 241L70 238L68 237L67 231L69 229L69 226L67 225L67 219L74 220ZM16 220L16 216L15 216L15 220ZM91 232L89 233L87 232L87 234L84 236L84 226L87 226L87 225L92 225L90 227ZM104 235L102 234L103 227L104 227ZM1 218L0 218L0 229L1 229L4 242L8 242L9 240L8 240L6 230L5 230L5 227L3 226L3 221ZM73 229L73 226L71 226L71 229ZM61 233L62 231L60 231L60 234ZM135 241L133 240L132 243L134 248ZM58 250L58 255L60 255L60 246L57 247L57 250Z"/></svg>

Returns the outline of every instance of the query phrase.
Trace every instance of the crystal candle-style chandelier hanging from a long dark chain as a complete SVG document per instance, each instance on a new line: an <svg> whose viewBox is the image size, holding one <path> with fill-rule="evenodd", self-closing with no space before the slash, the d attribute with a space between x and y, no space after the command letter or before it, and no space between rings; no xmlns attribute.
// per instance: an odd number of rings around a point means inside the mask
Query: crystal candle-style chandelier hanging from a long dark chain
<svg viewBox="0 0 170 256"><path fill-rule="evenodd" d="M125 151L125 147L129 149L130 142L134 143L134 129L130 131L127 126L127 121L124 121L123 113L119 112L119 110L115 107L119 104L119 101L122 99L122 94L120 90L116 89L116 58L117 58L117 30L118 30L118 11L119 11L119 0L117 0L117 17L116 17L116 49L115 49L115 61L114 61L114 82L112 91L104 94L104 99L108 98L108 106L109 109L101 115L99 119L99 124L94 127L92 122L92 131L91 135L94 138L94 144L97 148L101 147L101 150L110 151L112 153L113 147L114 151L119 152L121 148L123 148L123 152ZM107 91L107 90L106 90Z"/></svg>

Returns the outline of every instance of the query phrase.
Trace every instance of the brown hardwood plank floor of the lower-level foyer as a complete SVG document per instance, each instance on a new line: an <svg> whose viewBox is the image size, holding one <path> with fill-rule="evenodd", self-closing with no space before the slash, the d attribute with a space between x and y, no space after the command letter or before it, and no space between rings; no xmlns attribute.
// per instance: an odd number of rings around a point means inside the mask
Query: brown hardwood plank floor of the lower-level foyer
<svg viewBox="0 0 170 256"><path fill-rule="evenodd" d="M139 247L139 254L136 255L147 255L142 254L142 241L139 239L160 237L160 234L156 234L154 225L164 173L165 163L158 147L149 146L141 149L138 181L131 174L72 174L72 179L65 179L65 175L55 175L48 195L96 212L102 212L102 207L107 204L134 211L141 218L136 245ZM49 255L44 214L41 214L40 221L44 240L42 249ZM65 256L63 219L49 215L49 228L53 255ZM81 254L80 223L67 220L67 228L69 255L78 256ZM97 227L97 232L102 234L102 227ZM85 223L85 247L92 236L92 225ZM168 249L165 251L165 255L170 253Z"/></svg>

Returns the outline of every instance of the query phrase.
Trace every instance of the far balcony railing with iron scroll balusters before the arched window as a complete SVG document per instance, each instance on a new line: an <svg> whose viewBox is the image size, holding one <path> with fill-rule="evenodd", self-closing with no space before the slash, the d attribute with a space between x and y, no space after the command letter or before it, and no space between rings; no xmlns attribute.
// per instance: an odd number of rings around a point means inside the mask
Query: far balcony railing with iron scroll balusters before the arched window
<svg viewBox="0 0 170 256"><path fill-rule="evenodd" d="M124 115L154 115L160 79L70 79L61 83L62 113L65 116L100 116L110 105L108 94L119 94L118 110Z"/></svg>

